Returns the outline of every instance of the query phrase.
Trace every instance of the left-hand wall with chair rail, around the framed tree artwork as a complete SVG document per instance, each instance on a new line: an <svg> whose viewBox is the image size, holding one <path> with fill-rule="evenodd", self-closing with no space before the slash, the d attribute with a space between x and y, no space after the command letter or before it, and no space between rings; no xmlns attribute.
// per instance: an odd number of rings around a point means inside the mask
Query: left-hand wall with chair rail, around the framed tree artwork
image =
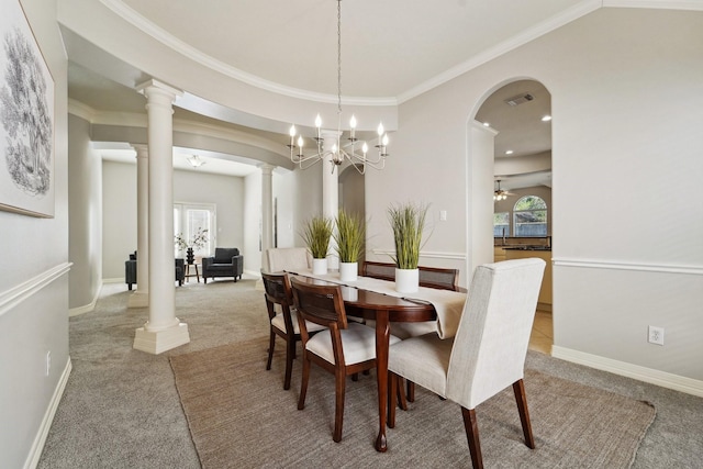
<svg viewBox="0 0 703 469"><path fill-rule="evenodd" d="M2 11L16 5L1 0ZM0 212L0 467L36 464L68 378L67 59L56 1L22 1L54 79L53 219ZM52 366L46 375L46 355Z"/></svg>

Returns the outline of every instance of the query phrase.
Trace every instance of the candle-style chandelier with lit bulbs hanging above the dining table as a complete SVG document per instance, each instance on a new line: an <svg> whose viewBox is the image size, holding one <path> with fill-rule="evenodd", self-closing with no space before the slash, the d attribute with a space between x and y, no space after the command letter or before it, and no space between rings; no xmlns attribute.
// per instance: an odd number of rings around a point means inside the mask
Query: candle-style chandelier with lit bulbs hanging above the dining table
<svg viewBox="0 0 703 469"><path fill-rule="evenodd" d="M383 123L378 125L378 141L376 148L378 156L370 159L368 156L369 146L366 142L359 142L356 137L356 118L352 114L349 120L349 136L347 142L342 143L342 0L337 0L337 134L336 142L333 144L332 149L323 149L323 138L321 137L322 119L320 114L315 119L316 136L313 137L313 148L316 148L316 153L313 155L304 155L303 146L304 139L302 135L298 135L295 139L297 130L295 125L290 126L290 160L298 165L301 169L308 169L317 161L323 161L327 157L331 157L332 172L334 172L337 166L341 166L345 158L352 163L352 166L361 175L366 172L366 167L370 166L373 169L383 169L386 166L386 157L388 156L388 134L383 130ZM359 145L360 144L360 145ZM359 152L360 153L357 153Z"/></svg>

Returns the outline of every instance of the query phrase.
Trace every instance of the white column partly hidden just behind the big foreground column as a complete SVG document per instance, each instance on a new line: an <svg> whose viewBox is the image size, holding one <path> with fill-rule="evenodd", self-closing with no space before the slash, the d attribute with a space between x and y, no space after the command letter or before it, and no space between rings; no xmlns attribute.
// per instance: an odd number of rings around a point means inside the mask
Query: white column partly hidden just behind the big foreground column
<svg viewBox="0 0 703 469"><path fill-rule="evenodd" d="M127 308L149 305L149 166L148 147L134 145L136 150L136 291Z"/></svg>

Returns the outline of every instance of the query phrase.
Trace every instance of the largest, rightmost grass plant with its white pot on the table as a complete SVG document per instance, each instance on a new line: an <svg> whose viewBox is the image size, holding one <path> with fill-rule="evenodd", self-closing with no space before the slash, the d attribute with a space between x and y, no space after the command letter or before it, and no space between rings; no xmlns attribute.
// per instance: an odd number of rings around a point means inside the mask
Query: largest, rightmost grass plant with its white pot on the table
<svg viewBox="0 0 703 469"><path fill-rule="evenodd" d="M417 291L420 283L417 265L427 216L427 205L403 203L388 209L395 244L395 290L401 293Z"/></svg>

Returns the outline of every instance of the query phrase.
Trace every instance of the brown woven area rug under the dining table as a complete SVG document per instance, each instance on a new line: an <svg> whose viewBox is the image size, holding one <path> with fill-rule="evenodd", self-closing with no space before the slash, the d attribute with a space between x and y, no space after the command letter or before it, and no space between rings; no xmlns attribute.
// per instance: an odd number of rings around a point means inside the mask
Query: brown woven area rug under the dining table
<svg viewBox="0 0 703 469"><path fill-rule="evenodd" d="M459 406L420 388L388 429L388 453L377 453L375 373L348 381L335 444L332 375L313 366L305 410L298 411L300 360L283 391L282 342L270 371L267 346L258 338L170 358L203 468L471 466ZM507 389L477 407L488 468L626 468L655 418L649 404L534 370L525 387L537 448L524 445Z"/></svg>

